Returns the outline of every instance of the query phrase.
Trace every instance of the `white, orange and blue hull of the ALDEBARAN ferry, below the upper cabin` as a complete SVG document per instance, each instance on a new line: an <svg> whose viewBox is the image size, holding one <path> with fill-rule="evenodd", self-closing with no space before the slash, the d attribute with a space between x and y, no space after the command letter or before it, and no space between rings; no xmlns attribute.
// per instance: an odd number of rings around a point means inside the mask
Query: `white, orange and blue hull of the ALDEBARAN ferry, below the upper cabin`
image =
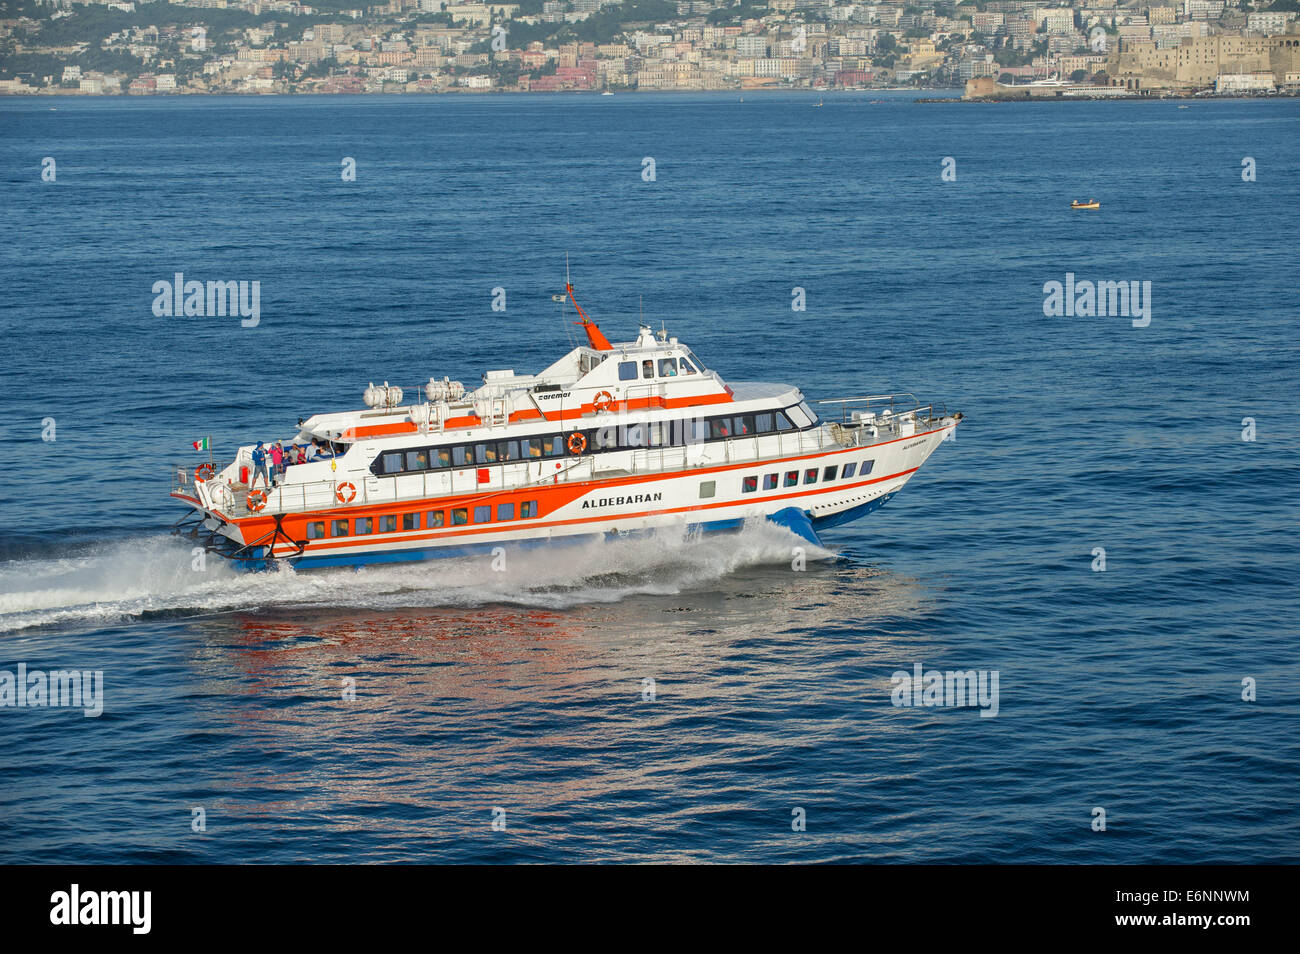
<svg viewBox="0 0 1300 954"><path fill-rule="evenodd" d="M763 454L736 460L706 446L690 460L682 448L680 467L629 473L612 471L625 461L584 459L573 471L566 459L519 461L490 469L448 471L430 485L422 478L385 481L355 477L360 494L316 494L282 485L274 513L237 513L230 494L174 494L202 515L213 547L237 564L263 568L287 561L295 567L368 565L424 560L467 552L490 552L559 543L593 534L630 534L664 526L702 532L738 529L767 519L811 542L816 532L870 513L897 493L957 426L945 419L880 443L822 447L812 452ZM775 445L774 445L775 446ZM852 465L852 476L845 477ZM510 472L514 468L514 473ZM421 480L422 486L415 481ZM403 481L407 486L403 486ZM523 483L523 486L520 486ZM352 486L347 474L338 486ZM775 485L775 486L774 486ZM421 490L432 493L421 493ZM198 528L195 528L198 529Z"/></svg>

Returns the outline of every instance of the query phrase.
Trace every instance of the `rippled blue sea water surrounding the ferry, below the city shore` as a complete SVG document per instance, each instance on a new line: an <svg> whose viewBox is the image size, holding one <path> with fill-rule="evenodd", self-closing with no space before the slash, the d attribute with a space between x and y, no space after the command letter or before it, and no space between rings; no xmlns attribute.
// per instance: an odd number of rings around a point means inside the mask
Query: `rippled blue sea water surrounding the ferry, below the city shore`
<svg viewBox="0 0 1300 954"><path fill-rule="evenodd" d="M1300 100L824 103L0 100L0 669L105 681L0 708L0 860L1300 862ZM803 571L768 526L191 568L190 441L540 369L566 255L615 339L958 439ZM260 324L155 317L177 272ZM1044 316L1067 273L1150 324ZM915 664L997 716L896 707Z"/></svg>

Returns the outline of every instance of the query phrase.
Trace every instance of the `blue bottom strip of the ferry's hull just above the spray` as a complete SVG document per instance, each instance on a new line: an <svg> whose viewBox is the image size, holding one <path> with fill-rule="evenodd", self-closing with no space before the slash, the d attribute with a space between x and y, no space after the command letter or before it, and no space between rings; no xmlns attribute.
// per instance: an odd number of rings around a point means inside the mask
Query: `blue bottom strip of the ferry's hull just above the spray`
<svg viewBox="0 0 1300 954"><path fill-rule="evenodd" d="M858 517L864 517L875 509L884 506L893 494L887 494L878 500L871 500L859 507L844 511L842 513L836 513L835 516L811 519L807 511L800 509L798 507L786 507L783 511L772 513L767 519L779 526L784 526L792 533L802 537L803 539L822 546L822 541L818 538L816 532L826 529L828 526L838 526L840 524L846 524L850 520L857 520ZM699 533L729 533L737 532L745 525L744 520L710 520L701 524L690 524L688 529L690 532ZM502 542L495 541L491 543L464 543L459 546L437 546L437 547L419 547L415 550L400 550L395 552L370 552L370 554L344 554L339 556L299 556L299 558L282 558L268 560L264 555L254 556L252 559L235 559L231 564L239 569L268 569L280 563L289 563L298 569L321 569L326 567L369 567L382 563L419 563L421 560L438 560L450 556L476 556L482 554L490 554L497 547L504 547L506 550L532 550L533 547L555 547L575 543L585 543L592 539L601 537L612 538L636 538L646 537L653 534L653 529L646 530L627 530L612 533L590 533L590 534L577 534L572 537L538 537L536 539L521 539Z"/></svg>

